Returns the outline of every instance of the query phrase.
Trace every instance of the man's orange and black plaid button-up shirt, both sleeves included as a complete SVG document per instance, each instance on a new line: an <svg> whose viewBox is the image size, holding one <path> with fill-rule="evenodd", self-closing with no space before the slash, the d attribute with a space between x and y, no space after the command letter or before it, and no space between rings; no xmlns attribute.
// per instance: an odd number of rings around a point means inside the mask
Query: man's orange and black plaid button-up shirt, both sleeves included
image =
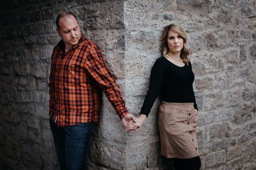
<svg viewBox="0 0 256 170"><path fill-rule="evenodd" d="M99 47L81 34L65 53L61 40L51 56L49 115L57 126L98 122L99 90L122 119L129 112ZM100 87L100 88L99 88Z"/></svg>

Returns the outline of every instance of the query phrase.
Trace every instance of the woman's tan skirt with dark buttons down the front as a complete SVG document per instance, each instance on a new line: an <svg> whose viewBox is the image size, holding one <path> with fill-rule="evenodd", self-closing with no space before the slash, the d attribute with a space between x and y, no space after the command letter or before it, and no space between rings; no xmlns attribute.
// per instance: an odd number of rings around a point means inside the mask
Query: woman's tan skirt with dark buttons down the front
<svg viewBox="0 0 256 170"><path fill-rule="evenodd" d="M162 102L158 127L161 138L161 154L166 158L194 158L199 156L196 126L199 116L194 103Z"/></svg>

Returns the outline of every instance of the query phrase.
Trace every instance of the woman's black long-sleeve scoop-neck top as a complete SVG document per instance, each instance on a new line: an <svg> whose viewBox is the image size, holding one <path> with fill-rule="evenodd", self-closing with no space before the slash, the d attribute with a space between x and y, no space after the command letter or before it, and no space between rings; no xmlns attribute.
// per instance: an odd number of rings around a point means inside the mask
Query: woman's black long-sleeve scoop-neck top
<svg viewBox="0 0 256 170"><path fill-rule="evenodd" d="M194 103L194 108L197 109L192 85L194 79L190 62L188 66L185 64L179 67L163 56L158 58L151 70L149 89L140 114L148 116L160 92L165 102Z"/></svg>

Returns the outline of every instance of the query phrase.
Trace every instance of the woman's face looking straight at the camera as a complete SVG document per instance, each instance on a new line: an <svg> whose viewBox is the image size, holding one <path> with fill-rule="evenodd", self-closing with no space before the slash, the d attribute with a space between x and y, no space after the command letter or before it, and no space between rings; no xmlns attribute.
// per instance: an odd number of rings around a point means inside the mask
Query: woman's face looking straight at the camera
<svg viewBox="0 0 256 170"><path fill-rule="evenodd" d="M180 53L183 48L183 38L174 32L173 30L169 30L167 36L167 44L168 44L168 52L171 54Z"/></svg>

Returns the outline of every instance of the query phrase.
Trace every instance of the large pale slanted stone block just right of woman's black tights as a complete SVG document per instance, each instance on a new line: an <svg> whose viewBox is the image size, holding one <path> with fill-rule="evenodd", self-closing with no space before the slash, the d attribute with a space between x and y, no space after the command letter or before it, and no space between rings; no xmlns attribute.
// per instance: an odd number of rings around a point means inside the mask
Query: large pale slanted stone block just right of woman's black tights
<svg viewBox="0 0 256 170"><path fill-rule="evenodd" d="M220 165L222 163L226 162L226 152L225 150L220 150L214 153L209 153L204 158L204 164L205 166L202 168L209 168L213 166Z"/></svg>

